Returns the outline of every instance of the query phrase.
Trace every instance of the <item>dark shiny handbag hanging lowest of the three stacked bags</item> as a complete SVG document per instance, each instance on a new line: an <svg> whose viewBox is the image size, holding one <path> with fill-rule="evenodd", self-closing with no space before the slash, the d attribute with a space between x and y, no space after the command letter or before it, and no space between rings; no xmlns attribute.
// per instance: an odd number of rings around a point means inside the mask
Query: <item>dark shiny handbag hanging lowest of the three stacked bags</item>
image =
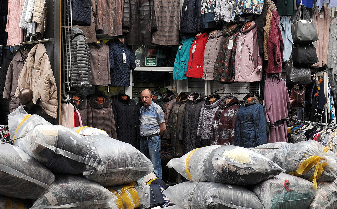
<svg viewBox="0 0 337 209"><path fill-rule="evenodd" d="M287 84L307 85L311 83L311 73L309 66L295 67L293 66L293 59L290 59L285 66L287 72Z"/></svg>

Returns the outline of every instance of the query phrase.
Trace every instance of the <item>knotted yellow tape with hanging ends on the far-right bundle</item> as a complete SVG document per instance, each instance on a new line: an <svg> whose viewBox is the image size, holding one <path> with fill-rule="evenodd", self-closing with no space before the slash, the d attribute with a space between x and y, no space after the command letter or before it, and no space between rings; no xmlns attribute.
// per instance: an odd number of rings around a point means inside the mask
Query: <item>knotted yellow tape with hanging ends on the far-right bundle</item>
<svg viewBox="0 0 337 209"><path fill-rule="evenodd" d="M321 159L324 160L324 158L321 158L319 156L310 156L301 163L301 165L297 168L296 172L291 172L291 173L288 173L288 174L294 175L294 176L301 176L301 175L307 173L308 171L310 171L310 169L314 165L316 165L315 173L312 177L310 177L309 181L312 181L315 189L317 189L317 179L319 179L319 177L322 175L323 168L325 166L327 166L327 163L319 164L319 161Z"/></svg>

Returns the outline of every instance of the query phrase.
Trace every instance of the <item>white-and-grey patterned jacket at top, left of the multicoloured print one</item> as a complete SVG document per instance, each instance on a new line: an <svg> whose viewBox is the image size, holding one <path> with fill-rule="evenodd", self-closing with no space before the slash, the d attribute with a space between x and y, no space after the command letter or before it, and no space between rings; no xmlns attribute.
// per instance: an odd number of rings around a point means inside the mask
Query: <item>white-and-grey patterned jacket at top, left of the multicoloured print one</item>
<svg viewBox="0 0 337 209"><path fill-rule="evenodd" d="M214 20L223 20L229 23L232 20L234 0L216 1Z"/></svg>

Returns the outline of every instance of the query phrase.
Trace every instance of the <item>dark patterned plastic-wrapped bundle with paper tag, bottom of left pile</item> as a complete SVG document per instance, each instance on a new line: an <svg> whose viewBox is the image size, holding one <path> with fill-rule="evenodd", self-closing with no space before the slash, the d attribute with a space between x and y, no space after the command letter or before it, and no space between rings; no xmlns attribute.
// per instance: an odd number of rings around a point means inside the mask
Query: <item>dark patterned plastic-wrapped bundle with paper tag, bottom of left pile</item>
<svg viewBox="0 0 337 209"><path fill-rule="evenodd" d="M98 209L110 201L117 201L117 198L103 186L81 176L60 175L31 209Z"/></svg>

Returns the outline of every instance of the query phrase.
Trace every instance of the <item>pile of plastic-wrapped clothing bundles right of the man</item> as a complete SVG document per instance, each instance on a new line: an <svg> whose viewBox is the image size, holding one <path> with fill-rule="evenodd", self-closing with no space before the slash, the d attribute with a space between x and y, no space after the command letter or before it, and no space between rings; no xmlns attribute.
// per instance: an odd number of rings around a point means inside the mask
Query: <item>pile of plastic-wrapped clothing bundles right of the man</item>
<svg viewBox="0 0 337 209"><path fill-rule="evenodd" d="M336 209L337 157L320 142L195 149L168 162L187 178L167 209ZM278 148L278 149L274 149Z"/></svg>

